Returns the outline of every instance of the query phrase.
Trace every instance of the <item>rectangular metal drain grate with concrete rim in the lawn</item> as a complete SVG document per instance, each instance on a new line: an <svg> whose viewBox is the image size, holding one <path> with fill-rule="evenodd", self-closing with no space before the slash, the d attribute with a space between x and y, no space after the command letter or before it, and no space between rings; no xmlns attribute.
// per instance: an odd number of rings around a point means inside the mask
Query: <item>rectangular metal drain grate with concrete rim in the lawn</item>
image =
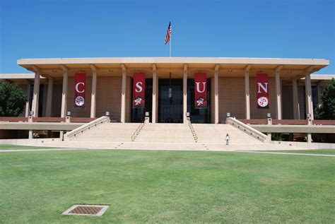
<svg viewBox="0 0 335 224"><path fill-rule="evenodd" d="M110 206L76 204L62 213L63 215L102 216Z"/></svg>

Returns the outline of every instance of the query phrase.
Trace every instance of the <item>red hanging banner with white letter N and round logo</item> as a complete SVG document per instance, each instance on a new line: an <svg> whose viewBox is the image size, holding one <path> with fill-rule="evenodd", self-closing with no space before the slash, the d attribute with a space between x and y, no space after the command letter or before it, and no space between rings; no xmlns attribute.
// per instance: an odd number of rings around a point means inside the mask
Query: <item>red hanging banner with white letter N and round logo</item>
<svg viewBox="0 0 335 224"><path fill-rule="evenodd" d="M257 107L269 108L269 76L267 73L256 74Z"/></svg>

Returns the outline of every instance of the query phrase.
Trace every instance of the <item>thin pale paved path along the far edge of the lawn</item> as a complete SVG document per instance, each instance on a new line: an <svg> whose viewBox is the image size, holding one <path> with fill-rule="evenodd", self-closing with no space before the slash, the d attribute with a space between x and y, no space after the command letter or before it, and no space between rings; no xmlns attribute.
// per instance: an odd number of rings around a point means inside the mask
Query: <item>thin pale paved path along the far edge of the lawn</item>
<svg viewBox="0 0 335 224"><path fill-rule="evenodd" d="M113 149L99 149L99 148L36 148L36 149L8 149L8 150L0 150L0 153L18 153L18 152L43 152L43 151L85 151L85 150L113 150ZM127 150L127 149L125 149ZM134 149L132 149L134 150ZM135 149L136 150L136 149ZM139 149L143 150L143 149ZM151 149L152 150L152 149ZM155 150L163 150L163 151L171 151L170 149L155 149ZM183 151L183 150L175 150L175 151ZM200 150L184 150L184 151L200 151ZM263 154L278 154L278 155L307 155L307 156L324 156L324 157L335 157L335 155L329 154L312 154L312 153L280 153L280 152L262 152L262 151L238 151L238 150L212 150L206 149L201 151L222 151L222 152L230 152L230 153L263 153Z"/></svg>

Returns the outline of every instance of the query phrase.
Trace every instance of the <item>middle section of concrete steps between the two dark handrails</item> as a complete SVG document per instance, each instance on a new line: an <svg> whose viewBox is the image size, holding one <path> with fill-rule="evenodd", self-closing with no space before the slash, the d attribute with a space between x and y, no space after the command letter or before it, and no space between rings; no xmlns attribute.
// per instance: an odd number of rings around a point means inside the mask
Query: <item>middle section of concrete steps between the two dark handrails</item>
<svg viewBox="0 0 335 224"><path fill-rule="evenodd" d="M136 143L195 143L187 124L145 124Z"/></svg>

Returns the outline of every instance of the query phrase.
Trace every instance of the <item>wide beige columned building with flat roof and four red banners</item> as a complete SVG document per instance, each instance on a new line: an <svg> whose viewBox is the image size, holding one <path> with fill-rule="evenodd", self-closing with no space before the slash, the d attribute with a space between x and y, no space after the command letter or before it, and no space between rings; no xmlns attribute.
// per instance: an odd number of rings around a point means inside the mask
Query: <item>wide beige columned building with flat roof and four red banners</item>
<svg viewBox="0 0 335 224"><path fill-rule="evenodd" d="M69 116L86 123L106 114L120 123L143 122L147 115L153 124L187 124L188 117L221 124L229 114L250 124L270 114L314 120L313 108L334 77L312 75L329 65L327 59L59 58L19 59L18 65L33 73L0 78L23 88L28 102L22 117L37 122Z"/></svg>

